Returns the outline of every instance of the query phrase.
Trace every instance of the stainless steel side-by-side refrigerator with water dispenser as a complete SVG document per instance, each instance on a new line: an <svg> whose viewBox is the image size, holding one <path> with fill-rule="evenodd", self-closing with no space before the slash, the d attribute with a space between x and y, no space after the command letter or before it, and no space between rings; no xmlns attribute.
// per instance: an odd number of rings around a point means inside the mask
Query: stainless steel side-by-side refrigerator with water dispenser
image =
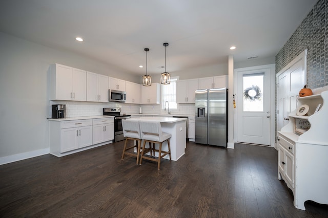
<svg viewBox="0 0 328 218"><path fill-rule="evenodd" d="M228 89L196 90L196 143L227 147Z"/></svg>

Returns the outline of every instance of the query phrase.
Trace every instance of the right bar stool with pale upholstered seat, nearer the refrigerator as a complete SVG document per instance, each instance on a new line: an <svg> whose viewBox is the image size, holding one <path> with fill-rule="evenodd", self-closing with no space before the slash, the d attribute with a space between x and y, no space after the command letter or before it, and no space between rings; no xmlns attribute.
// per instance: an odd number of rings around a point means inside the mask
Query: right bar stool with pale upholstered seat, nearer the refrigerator
<svg viewBox="0 0 328 218"><path fill-rule="evenodd" d="M141 131L141 139L144 140L144 145L142 146L140 165L142 163L142 159L147 159L151 161L157 162L157 170L160 168L160 159L166 155L170 156L171 160L171 148L170 148L170 138L171 134L162 132L160 122L158 121L139 121L140 131ZM168 151L162 151L162 143L168 141ZM155 149L155 145L153 146L153 154L155 156L155 151L158 151L158 159L155 157L147 157L144 156L144 150L146 142L159 144L159 148ZM162 152L164 152L162 154Z"/></svg>

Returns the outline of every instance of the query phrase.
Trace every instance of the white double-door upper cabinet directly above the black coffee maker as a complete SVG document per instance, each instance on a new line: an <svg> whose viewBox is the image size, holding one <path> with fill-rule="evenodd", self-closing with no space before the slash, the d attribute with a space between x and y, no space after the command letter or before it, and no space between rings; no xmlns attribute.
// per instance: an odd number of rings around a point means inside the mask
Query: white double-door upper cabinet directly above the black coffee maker
<svg viewBox="0 0 328 218"><path fill-rule="evenodd" d="M50 67L50 100L87 100L87 71L58 63Z"/></svg>

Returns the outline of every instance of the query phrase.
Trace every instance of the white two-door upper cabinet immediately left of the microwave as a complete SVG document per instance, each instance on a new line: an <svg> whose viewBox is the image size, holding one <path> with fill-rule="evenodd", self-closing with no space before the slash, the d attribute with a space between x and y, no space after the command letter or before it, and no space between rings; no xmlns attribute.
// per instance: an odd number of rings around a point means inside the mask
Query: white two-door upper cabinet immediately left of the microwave
<svg viewBox="0 0 328 218"><path fill-rule="evenodd" d="M87 72L87 101L108 102L108 76Z"/></svg>

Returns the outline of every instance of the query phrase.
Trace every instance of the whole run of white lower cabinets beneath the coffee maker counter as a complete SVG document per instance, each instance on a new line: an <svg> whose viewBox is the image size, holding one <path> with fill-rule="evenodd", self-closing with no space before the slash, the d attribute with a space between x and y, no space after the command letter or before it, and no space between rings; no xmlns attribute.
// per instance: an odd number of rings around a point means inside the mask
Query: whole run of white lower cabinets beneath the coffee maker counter
<svg viewBox="0 0 328 218"><path fill-rule="evenodd" d="M62 157L112 142L114 118L50 120L50 154Z"/></svg>

